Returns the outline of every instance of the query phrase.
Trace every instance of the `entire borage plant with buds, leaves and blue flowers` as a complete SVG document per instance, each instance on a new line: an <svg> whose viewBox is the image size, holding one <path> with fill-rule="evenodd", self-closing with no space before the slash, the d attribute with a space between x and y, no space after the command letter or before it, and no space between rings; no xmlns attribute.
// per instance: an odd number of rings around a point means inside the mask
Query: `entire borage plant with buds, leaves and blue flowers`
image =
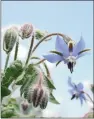
<svg viewBox="0 0 94 119"><path fill-rule="evenodd" d="M51 51L53 54L45 55L44 59L33 56L38 46L43 41L50 41L52 36L57 36L56 51ZM24 63L18 60L19 45L21 39L24 42L28 38L31 39L30 48ZM37 44L34 43L35 40L39 40ZM8 65L14 46L14 61ZM82 39L75 44L70 37L62 33L48 34L47 31L35 29L32 24L24 24L20 29L17 27L7 29L3 37L3 49L6 52L7 58L4 70L1 73L2 118L37 117L39 114L42 116L42 110L47 107L48 102L60 104L53 95L53 90L56 88L45 60L51 63L56 62L56 65L64 61L70 71L73 72L73 66L76 64L76 60L90 50L85 49L85 43ZM45 70L40 64L44 66ZM72 99L75 97L80 98L81 103L83 99L86 100L84 91L78 89L81 84L79 86L77 85L77 89L75 84L71 83L71 86L77 92L72 92ZM10 90L9 87L12 89ZM15 91L15 87L20 87L19 98L11 97Z"/></svg>

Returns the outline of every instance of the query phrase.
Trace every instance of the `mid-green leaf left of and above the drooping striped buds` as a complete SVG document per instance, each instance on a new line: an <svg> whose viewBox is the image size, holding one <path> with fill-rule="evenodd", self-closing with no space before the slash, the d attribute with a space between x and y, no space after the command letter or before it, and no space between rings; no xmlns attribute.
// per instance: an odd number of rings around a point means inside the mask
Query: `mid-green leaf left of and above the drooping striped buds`
<svg viewBox="0 0 94 119"><path fill-rule="evenodd" d="M17 78L16 84L22 85L20 89L21 95L25 93L29 86L32 85L33 81L36 80L38 76L38 71L33 64L28 65L25 71L22 72L22 74Z"/></svg>

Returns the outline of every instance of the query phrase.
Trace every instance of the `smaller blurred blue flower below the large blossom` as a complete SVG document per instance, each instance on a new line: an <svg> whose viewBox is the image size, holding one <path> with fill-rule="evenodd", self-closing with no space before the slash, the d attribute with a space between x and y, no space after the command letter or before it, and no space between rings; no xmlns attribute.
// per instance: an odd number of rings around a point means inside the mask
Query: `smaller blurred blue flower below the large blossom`
<svg viewBox="0 0 94 119"><path fill-rule="evenodd" d="M77 85L71 81L71 77L68 77L68 85L72 88L68 92L72 95L71 100L74 98L80 99L81 105L83 101L86 101L86 97L83 91L83 84L78 83Z"/></svg>

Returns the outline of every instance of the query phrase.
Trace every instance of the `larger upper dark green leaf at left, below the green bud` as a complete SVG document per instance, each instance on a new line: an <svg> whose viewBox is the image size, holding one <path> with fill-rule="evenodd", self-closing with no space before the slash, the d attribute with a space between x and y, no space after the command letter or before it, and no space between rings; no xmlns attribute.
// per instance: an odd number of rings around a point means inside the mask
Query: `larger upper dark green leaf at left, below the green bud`
<svg viewBox="0 0 94 119"><path fill-rule="evenodd" d="M23 66L22 62L17 60L14 61L5 71L4 75L2 76L1 85L8 87L13 80L22 73Z"/></svg>

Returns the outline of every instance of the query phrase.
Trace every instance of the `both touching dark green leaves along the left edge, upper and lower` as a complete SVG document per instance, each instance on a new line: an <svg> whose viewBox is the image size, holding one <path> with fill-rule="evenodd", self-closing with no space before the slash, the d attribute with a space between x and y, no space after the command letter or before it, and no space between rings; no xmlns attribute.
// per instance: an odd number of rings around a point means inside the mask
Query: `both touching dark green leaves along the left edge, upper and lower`
<svg viewBox="0 0 94 119"><path fill-rule="evenodd" d="M22 62L14 61L1 75L1 97L8 96L11 91L8 89L13 80L20 75L23 70Z"/></svg>

